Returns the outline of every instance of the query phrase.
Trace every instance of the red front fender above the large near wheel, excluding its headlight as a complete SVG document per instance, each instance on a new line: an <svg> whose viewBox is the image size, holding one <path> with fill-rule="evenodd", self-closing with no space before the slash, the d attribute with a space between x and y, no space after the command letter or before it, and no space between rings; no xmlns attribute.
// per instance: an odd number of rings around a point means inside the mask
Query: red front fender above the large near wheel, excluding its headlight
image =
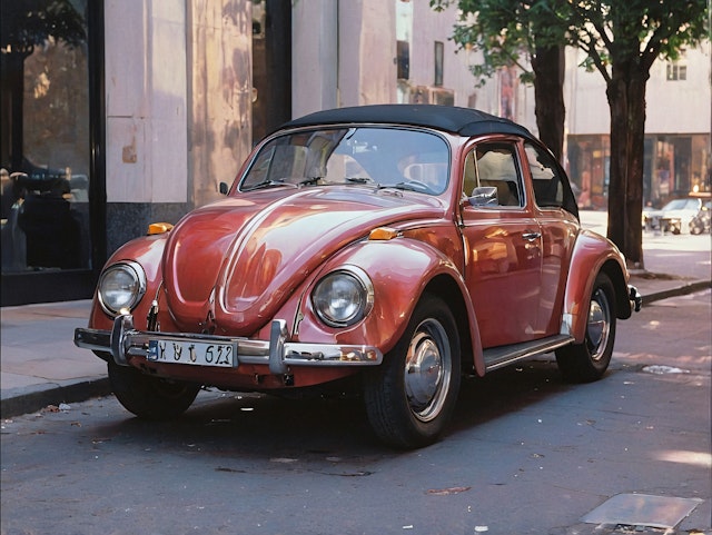
<svg viewBox="0 0 712 535"><path fill-rule="evenodd" d="M374 308L354 327L334 329L317 318L309 296L323 276L344 265L358 266L368 274L374 285ZM475 368L482 375L484 360L479 330L462 275L453 261L436 248L408 238L360 241L327 261L304 293L300 321L295 334L303 341L334 338L342 344L376 346L387 354L403 336L425 291L435 291L454 307L461 337L471 344Z"/></svg>

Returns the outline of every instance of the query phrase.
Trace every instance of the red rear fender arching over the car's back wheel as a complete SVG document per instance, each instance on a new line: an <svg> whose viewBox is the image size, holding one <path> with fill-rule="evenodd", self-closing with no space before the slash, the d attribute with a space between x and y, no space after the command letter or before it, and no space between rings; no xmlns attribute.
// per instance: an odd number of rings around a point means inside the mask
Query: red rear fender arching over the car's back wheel
<svg viewBox="0 0 712 535"><path fill-rule="evenodd" d="M602 271L613 283L617 317L630 317L625 258L609 239L590 230L582 230L571 258L561 327L561 333L572 335L576 344L584 340L589 301L596 276Z"/></svg>

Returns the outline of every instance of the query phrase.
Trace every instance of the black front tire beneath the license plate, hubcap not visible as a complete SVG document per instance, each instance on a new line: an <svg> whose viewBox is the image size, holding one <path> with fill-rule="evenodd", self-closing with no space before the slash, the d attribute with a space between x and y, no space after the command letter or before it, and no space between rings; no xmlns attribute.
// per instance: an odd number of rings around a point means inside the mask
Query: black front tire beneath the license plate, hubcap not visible
<svg viewBox="0 0 712 535"><path fill-rule="evenodd" d="M109 361L108 368L113 395L139 418L176 418L190 407L200 392L199 385L151 377L113 361Z"/></svg>

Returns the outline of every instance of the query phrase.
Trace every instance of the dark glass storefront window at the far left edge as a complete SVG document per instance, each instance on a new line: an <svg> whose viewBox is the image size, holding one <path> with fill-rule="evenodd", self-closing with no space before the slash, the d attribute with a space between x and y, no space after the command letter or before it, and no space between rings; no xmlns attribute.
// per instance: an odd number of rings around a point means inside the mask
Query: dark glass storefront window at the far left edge
<svg viewBox="0 0 712 535"><path fill-rule="evenodd" d="M2 304L6 289L27 303L83 298L81 281L92 277L90 2L0 1Z"/></svg>

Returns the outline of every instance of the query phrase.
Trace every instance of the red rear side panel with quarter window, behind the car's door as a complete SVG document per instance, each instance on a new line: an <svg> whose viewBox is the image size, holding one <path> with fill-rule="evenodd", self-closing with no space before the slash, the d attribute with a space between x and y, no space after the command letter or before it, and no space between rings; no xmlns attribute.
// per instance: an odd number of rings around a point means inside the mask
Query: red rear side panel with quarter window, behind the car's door
<svg viewBox="0 0 712 535"><path fill-rule="evenodd" d="M563 296L577 228L576 216L568 210L575 210L575 201L564 171L547 150L525 141L524 152L525 170L528 171L524 174L525 184L531 182L534 217L542 232L536 330L542 336L550 336L561 329Z"/></svg>

